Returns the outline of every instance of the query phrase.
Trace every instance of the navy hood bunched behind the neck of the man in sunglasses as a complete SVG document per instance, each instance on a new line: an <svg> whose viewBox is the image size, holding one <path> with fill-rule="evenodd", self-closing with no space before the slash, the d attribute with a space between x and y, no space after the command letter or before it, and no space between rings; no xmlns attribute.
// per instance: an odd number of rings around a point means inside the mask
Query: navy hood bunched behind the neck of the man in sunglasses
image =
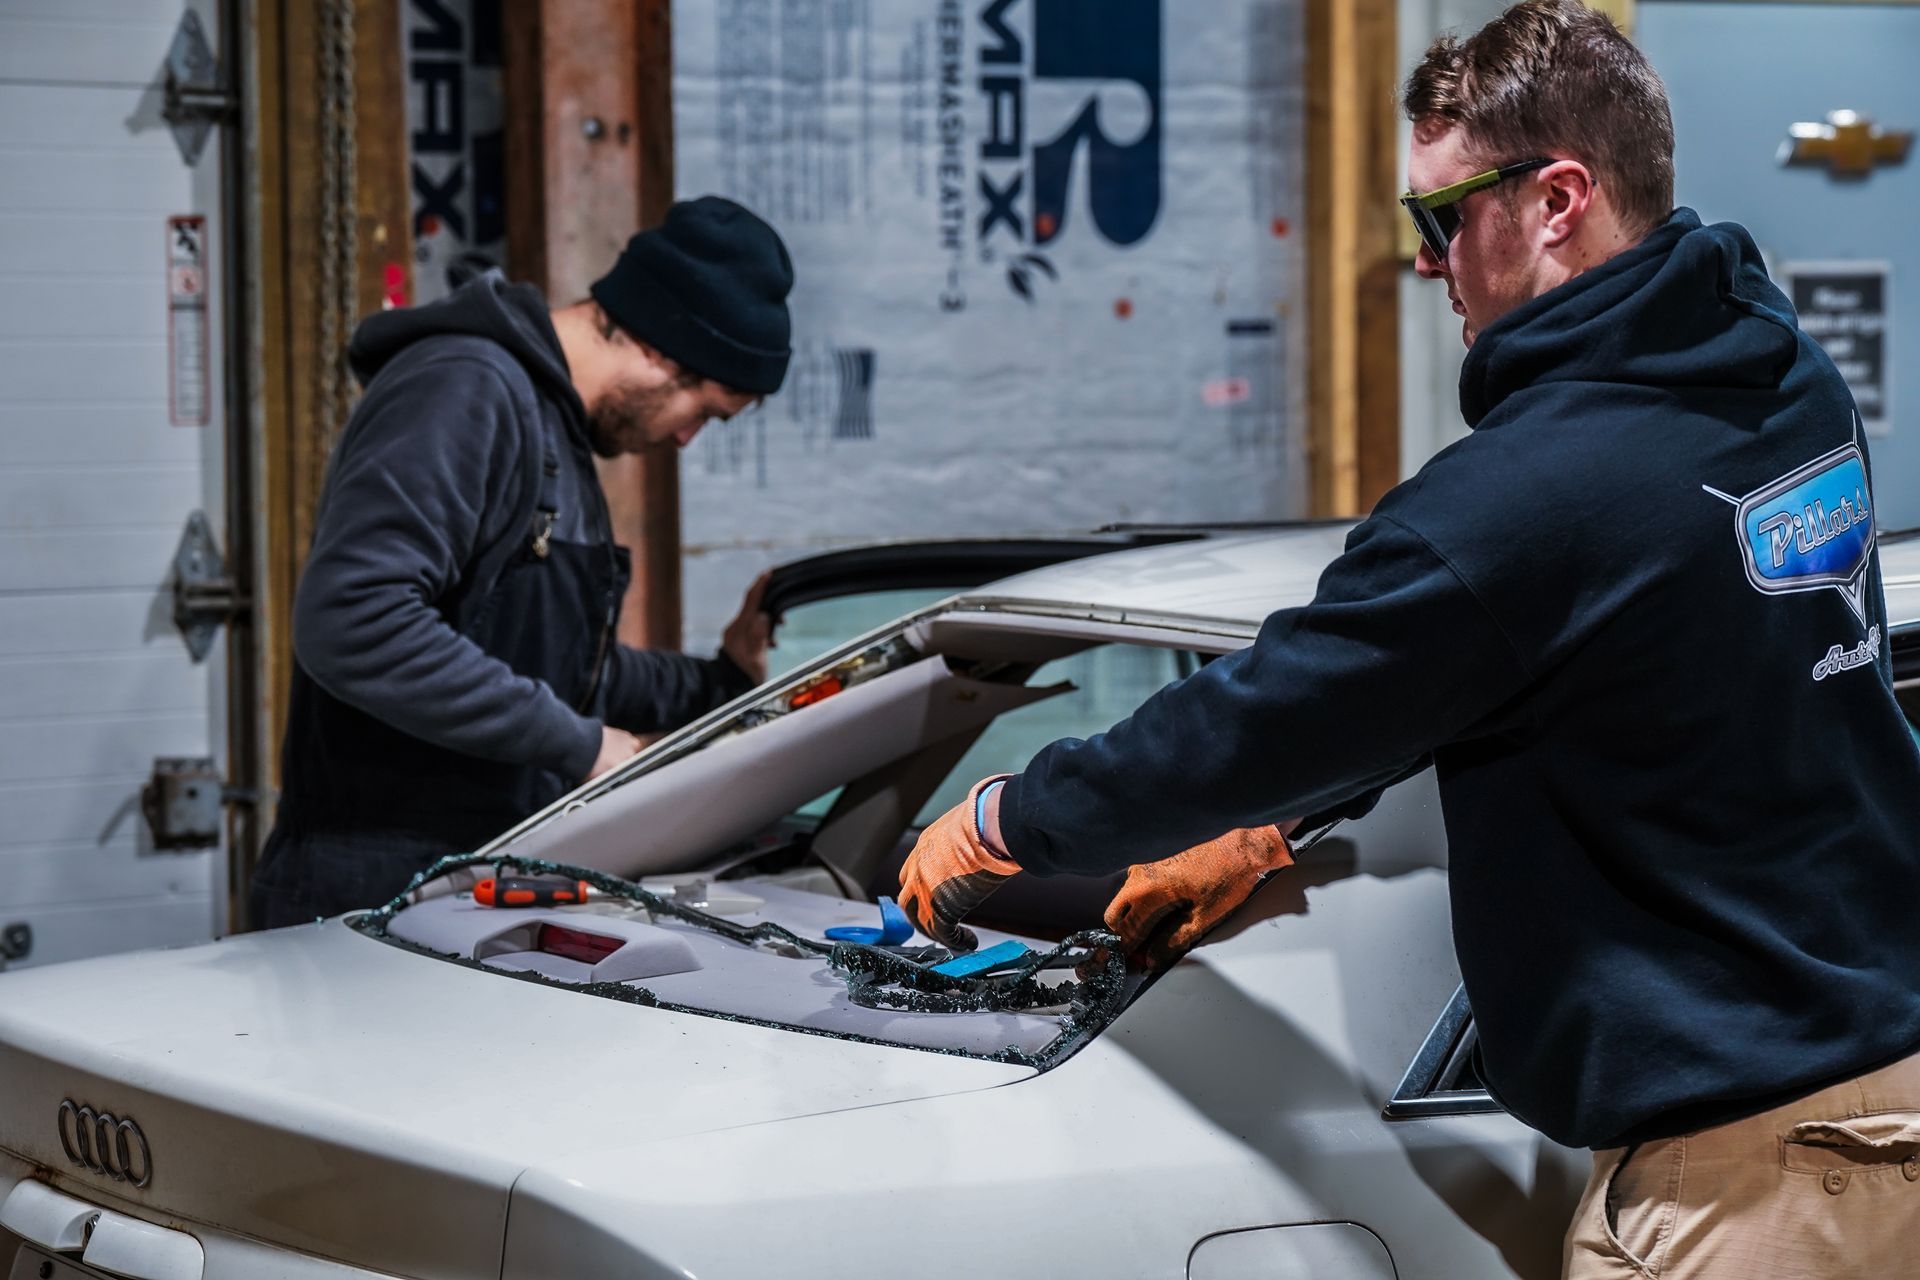
<svg viewBox="0 0 1920 1280"><path fill-rule="evenodd" d="M1793 303L1766 276L1753 236L1674 209L1645 240L1490 324L1459 374L1478 426L1546 382L1774 388L1793 367Z"/></svg>

